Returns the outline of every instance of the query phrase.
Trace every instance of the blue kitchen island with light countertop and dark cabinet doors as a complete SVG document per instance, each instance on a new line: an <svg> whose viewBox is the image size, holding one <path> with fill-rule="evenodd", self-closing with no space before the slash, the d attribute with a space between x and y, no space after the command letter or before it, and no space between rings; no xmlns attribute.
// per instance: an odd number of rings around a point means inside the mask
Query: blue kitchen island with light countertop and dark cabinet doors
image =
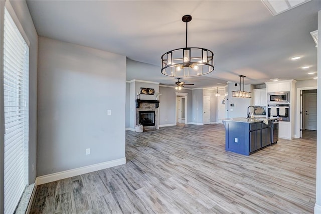
<svg viewBox="0 0 321 214"><path fill-rule="evenodd" d="M267 124L263 123L264 119ZM225 150L250 155L272 143L272 118L227 118Z"/></svg>

